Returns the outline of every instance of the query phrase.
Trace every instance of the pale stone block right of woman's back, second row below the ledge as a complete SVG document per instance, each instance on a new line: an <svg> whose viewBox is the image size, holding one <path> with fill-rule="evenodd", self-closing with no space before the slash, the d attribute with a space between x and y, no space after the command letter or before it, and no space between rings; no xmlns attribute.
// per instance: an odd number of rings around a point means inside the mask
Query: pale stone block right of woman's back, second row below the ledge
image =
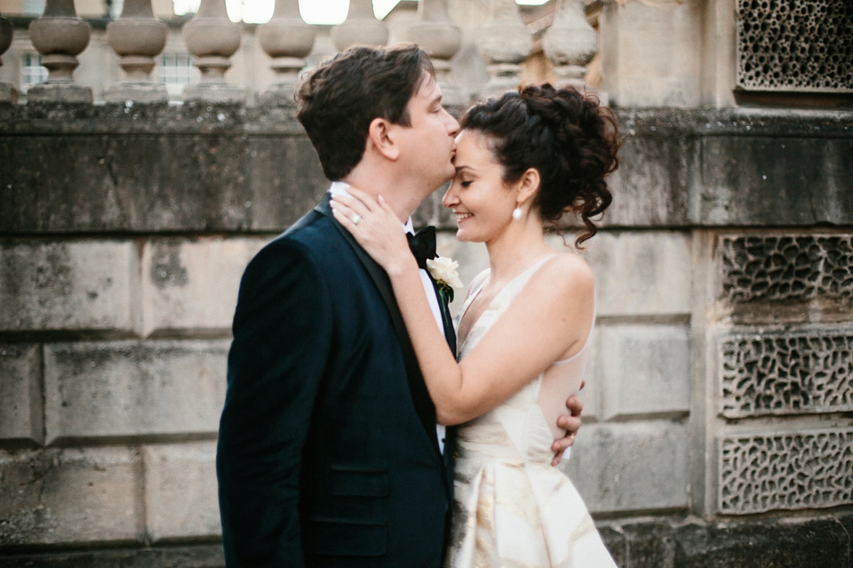
<svg viewBox="0 0 853 568"><path fill-rule="evenodd" d="M596 375L605 420L690 411L690 330L687 326L598 327Z"/></svg>

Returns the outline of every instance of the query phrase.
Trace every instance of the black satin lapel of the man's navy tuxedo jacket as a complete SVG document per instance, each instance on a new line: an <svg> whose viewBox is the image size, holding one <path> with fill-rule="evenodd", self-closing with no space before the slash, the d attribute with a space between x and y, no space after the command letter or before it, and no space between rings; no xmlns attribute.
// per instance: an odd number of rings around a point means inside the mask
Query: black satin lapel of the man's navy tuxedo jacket
<svg viewBox="0 0 853 568"><path fill-rule="evenodd" d="M353 235L335 220L329 206L330 199L330 195L326 193L323 201L315 207L315 211L331 219L332 225L335 225L355 251L355 256L363 264L364 270L367 271L373 283L376 284L379 296L382 296L382 300L387 305L388 313L391 315L391 322L394 324L397 336L400 338L400 345L403 348L403 363L406 367L406 375L409 377L409 390L411 390L412 402L414 403L415 410L418 412L420 422L424 425L426 435L429 436L429 439L433 443L435 453L441 458L442 454L438 449L438 435L435 432L435 406L432 399L429 398L429 391L426 390L424 377L420 374L418 358L415 356L415 350L411 346L411 339L409 338L409 333L406 331L403 314L400 313L400 308L397 306L394 290L391 288L391 281L388 280L388 276L382 267L376 264L376 261L355 241Z"/></svg>

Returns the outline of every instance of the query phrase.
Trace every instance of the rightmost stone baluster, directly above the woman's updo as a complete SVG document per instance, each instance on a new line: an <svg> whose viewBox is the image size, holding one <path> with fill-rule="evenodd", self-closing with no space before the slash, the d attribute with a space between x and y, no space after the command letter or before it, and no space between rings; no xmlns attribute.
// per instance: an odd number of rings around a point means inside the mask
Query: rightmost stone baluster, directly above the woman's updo
<svg viewBox="0 0 853 568"><path fill-rule="evenodd" d="M554 64L559 86L583 92L586 64L598 51L598 34L586 20L583 0L557 0L554 23L545 33L543 50Z"/></svg>

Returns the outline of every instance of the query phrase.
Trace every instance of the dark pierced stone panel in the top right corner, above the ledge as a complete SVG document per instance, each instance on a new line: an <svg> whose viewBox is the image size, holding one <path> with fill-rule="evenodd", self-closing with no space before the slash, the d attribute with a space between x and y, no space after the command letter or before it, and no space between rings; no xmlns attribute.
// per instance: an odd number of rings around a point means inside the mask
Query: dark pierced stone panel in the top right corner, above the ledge
<svg viewBox="0 0 853 568"><path fill-rule="evenodd" d="M737 0L737 84L750 91L853 92L853 4Z"/></svg>

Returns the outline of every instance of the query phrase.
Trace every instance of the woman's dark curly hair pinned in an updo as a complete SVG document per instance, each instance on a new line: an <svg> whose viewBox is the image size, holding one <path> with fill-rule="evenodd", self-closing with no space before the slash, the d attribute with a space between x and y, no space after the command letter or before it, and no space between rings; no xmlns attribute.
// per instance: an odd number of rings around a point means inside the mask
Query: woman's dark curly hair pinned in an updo
<svg viewBox="0 0 853 568"><path fill-rule="evenodd" d="M590 217L613 201L604 177L618 166L619 141L616 118L593 95L548 83L519 87L469 108L461 127L487 136L505 183L538 170L541 184L532 206L543 222L556 225L573 211L586 225L576 246L595 234Z"/></svg>

